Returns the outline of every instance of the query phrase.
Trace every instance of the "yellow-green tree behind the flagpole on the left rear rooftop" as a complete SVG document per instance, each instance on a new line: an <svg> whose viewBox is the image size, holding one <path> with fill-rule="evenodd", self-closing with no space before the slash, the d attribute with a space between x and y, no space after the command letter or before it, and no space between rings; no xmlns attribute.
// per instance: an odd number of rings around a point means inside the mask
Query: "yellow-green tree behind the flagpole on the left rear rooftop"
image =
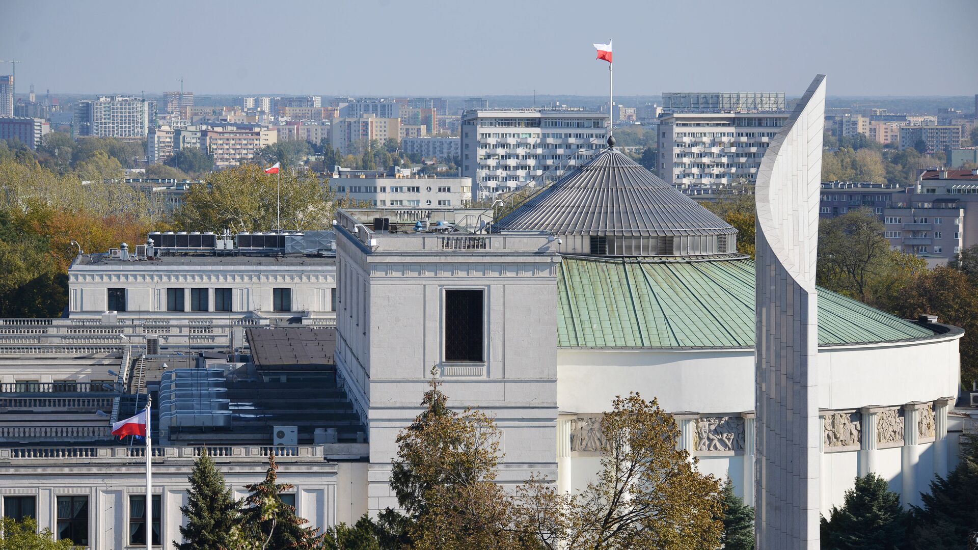
<svg viewBox="0 0 978 550"><path fill-rule="evenodd" d="M308 170L281 172L281 229L329 229L333 194ZM177 223L187 231L270 231L278 217L278 177L258 164L245 163L213 172L205 183L191 186Z"/></svg>

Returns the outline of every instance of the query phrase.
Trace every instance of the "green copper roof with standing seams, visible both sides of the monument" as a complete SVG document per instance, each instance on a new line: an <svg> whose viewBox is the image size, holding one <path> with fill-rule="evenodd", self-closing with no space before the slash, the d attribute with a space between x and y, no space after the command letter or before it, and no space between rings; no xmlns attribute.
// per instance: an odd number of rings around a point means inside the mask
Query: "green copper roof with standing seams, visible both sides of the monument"
<svg viewBox="0 0 978 550"><path fill-rule="evenodd" d="M564 257L560 347L753 347L754 261ZM933 331L819 289L819 344L932 338Z"/></svg>

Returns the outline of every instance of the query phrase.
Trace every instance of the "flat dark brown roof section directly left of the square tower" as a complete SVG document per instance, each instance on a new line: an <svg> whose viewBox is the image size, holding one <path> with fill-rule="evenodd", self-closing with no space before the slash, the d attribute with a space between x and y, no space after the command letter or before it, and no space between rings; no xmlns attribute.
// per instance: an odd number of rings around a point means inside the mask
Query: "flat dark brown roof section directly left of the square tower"
<svg viewBox="0 0 978 550"><path fill-rule="evenodd" d="M247 342L258 368L332 365L335 327L248 329Z"/></svg>

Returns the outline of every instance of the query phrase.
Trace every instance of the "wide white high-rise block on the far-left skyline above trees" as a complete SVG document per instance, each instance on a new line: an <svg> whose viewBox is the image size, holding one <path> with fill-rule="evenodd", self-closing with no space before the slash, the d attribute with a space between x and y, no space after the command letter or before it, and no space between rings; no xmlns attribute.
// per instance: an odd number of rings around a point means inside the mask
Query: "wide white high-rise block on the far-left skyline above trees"
<svg viewBox="0 0 978 550"><path fill-rule="evenodd" d="M74 127L79 136L146 139L156 121L156 102L124 96L81 100Z"/></svg>

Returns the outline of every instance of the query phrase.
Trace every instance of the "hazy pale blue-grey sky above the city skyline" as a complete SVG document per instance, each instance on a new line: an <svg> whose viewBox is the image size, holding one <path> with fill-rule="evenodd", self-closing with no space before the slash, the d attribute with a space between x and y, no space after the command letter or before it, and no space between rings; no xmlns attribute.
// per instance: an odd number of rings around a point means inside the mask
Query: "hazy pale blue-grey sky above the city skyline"
<svg viewBox="0 0 978 550"><path fill-rule="evenodd" d="M978 0L0 0L18 91L978 93ZM0 65L0 74L9 64Z"/></svg>

